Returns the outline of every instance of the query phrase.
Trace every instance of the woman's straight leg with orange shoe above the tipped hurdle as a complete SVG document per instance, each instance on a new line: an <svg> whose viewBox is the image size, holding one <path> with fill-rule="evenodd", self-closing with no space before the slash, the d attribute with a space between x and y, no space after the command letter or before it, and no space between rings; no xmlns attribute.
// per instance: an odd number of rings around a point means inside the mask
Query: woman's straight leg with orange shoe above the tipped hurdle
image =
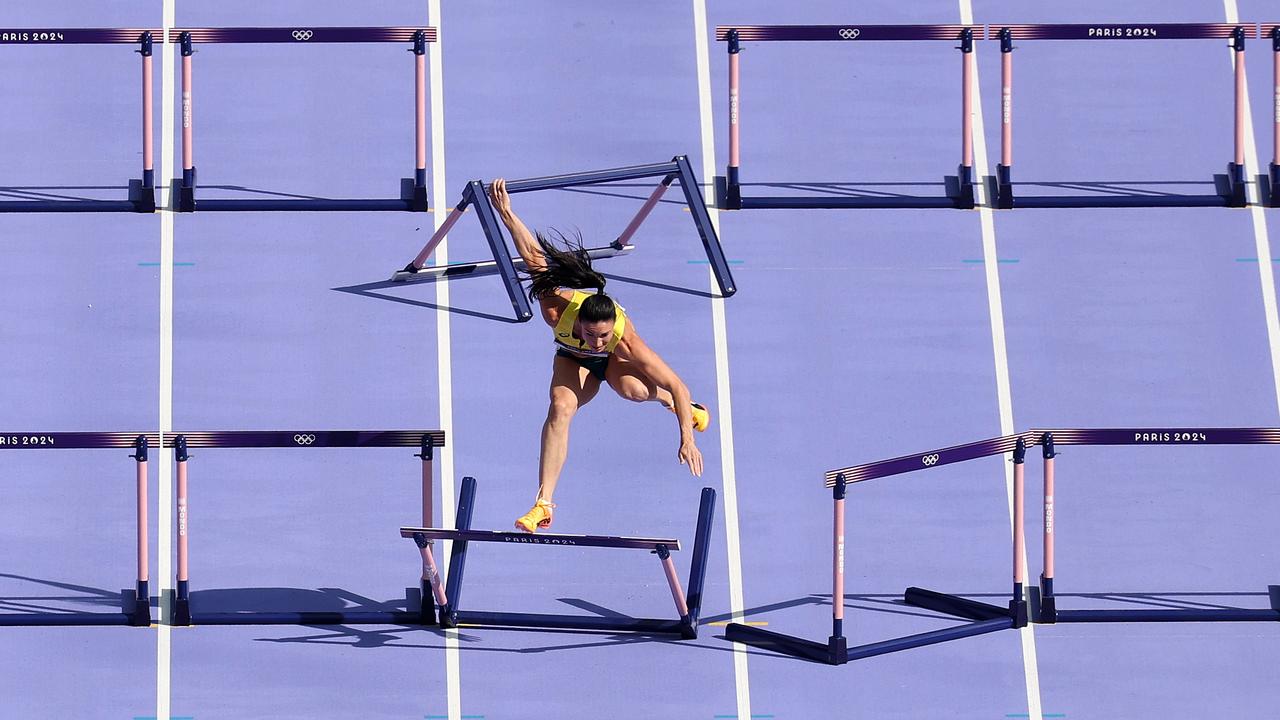
<svg viewBox="0 0 1280 720"><path fill-rule="evenodd" d="M586 405L600 389L600 380L577 363L556 355L552 361L550 405L543 423L541 451L538 457L538 497L534 507L516 527L534 532L550 525L552 496L559 482L564 457L568 455L568 428L577 409Z"/></svg>

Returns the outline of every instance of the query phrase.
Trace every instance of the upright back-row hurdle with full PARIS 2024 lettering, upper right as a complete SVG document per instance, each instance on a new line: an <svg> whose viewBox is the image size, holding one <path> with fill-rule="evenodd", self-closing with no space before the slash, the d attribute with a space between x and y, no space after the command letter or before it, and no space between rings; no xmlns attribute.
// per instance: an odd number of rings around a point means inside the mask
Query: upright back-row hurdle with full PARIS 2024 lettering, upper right
<svg viewBox="0 0 1280 720"><path fill-rule="evenodd" d="M998 31L996 28L1000 28ZM1000 164L996 165L996 206L1011 208L1244 208L1244 38L1256 32L1252 23L1146 23L1146 24L1002 24L988 26L988 40L1000 41L1001 120ZM1216 192L1185 195L1169 192L1119 193L1107 187L1097 195L1014 195L1014 41L1023 40L1230 40L1235 54L1234 142L1235 154L1225 176L1213 178ZM1274 165L1272 165L1274 168ZM1274 170L1272 170L1274 172ZM1079 183L1075 183L1076 186Z"/></svg>

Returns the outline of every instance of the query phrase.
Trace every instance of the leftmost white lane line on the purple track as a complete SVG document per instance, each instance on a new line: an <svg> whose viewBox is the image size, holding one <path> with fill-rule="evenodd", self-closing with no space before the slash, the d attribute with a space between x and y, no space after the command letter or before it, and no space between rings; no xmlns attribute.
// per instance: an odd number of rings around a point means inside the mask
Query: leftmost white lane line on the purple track
<svg viewBox="0 0 1280 720"><path fill-rule="evenodd" d="M174 0L164 0L164 19L160 36L160 168L156 186L160 190L160 437L173 429L173 206L169 178L173 177L173 109L174 109L174 51L169 42L169 29L174 26ZM164 443L161 442L161 446ZM156 518L156 589L160 592L160 621L156 624L156 720L169 720L172 697L169 596L173 591L173 462L172 454L156 448L160 460L157 479Z"/></svg>

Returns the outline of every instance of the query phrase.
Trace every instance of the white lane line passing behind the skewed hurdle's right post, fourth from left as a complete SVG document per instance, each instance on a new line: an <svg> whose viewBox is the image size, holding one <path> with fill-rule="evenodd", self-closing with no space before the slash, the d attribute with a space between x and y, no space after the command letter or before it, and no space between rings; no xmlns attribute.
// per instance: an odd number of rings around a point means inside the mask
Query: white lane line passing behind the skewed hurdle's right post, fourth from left
<svg viewBox="0 0 1280 720"><path fill-rule="evenodd" d="M960 0L960 22L973 24L973 4L970 0ZM978 44L969 61L978 63ZM986 124L982 119L982 92L978 90L978 73L973 73L973 149L977 174L987 170L987 135ZM978 193L978 218L982 223L982 258L987 274L987 310L991 315L991 345L996 360L996 397L1000 404L1000 434L1009 436L1018 432L1014 428L1014 401L1012 389L1009 383L1009 352L1005 346L1005 306L1000 295L1000 255L996 252L996 218L991 204L987 202L986 187L979 181L974 191ZM1005 492L1009 502L1009 530L1014 529L1014 466L1005 464ZM1027 573L1027 553L1023 553L1023 578L1030 580ZM1036 629L1028 624L1019 630L1023 650L1023 675L1027 682L1027 715L1028 720L1043 720L1044 714L1041 707L1039 691L1039 664L1036 656Z"/></svg>

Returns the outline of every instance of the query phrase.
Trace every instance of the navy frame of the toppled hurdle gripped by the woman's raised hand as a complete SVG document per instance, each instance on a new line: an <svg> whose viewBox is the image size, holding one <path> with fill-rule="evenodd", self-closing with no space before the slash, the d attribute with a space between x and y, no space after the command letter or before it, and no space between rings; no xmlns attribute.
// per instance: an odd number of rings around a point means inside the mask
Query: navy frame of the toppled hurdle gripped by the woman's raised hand
<svg viewBox="0 0 1280 720"><path fill-rule="evenodd" d="M508 181L507 192L534 192L539 190L580 187L585 184L621 182L648 177L662 177L663 181L668 183L672 179L680 181L680 187L685 193L685 204L689 208L690 215L692 215L694 227L698 229L698 237L703 242L703 249L707 251L707 260L710 263L712 270L716 273L716 282L719 284L721 295L724 297L732 296L737 292L737 287L733 284L733 274L728 269L728 261L724 259L724 249L721 247L719 237L716 234L716 227L712 225L712 218L707 211L707 202L703 199L703 191L698 184L698 178L694 176L694 169L689 164L689 158L685 155L677 155L672 158L669 163L654 163L650 165L634 165L630 168L613 168L607 170L591 170L585 173L568 173L563 176ZM498 215L493 209L493 204L489 201L489 193L485 191L485 183L483 181L476 179L467 183L467 187L462 191L462 200L454 210L463 211L468 205L474 205L476 208L476 214L480 218L480 227L484 231L485 240L489 242L489 250L493 254L493 263L495 265L494 269L499 275L502 275L502 283L507 290L507 296L511 299L511 307L516 315L516 320L521 323L530 320L534 316L534 311L530 307L529 299L525 296L525 291L520 284L520 277L516 274L516 264L511 258L506 236L502 232L502 223L498 222ZM591 252L599 251L603 254L621 254L628 249L630 246L625 246L614 241L614 243L608 247L591 249ZM449 265L443 274L472 274L476 265L479 264ZM419 270L413 268L411 263L410 265L406 265L403 270L396 273L393 279L402 282L412 279L412 275L417 272Z"/></svg>

